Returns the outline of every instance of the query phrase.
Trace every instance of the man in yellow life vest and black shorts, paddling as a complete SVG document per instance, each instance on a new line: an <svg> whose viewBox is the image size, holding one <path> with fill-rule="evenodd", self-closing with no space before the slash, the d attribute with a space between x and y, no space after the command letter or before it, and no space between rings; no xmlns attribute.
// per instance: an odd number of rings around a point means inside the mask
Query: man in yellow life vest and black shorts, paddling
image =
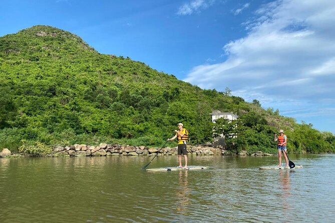
<svg viewBox="0 0 335 223"><path fill-rule="evenodd" d="M186 128L183 127L183 123L178 123L178 128L179 130L174 130L176 132L176 135L173 136L172 138L168 138L167 140L173 140L176 137L178 137L178 161L179 161L179 168L182 168L182 164L181 164L181 154L184 155L184 159L185 159L185 165L184 168L187 168L187 150L186 150L186 141L188 139L188 132L186 130Z"/></svg>

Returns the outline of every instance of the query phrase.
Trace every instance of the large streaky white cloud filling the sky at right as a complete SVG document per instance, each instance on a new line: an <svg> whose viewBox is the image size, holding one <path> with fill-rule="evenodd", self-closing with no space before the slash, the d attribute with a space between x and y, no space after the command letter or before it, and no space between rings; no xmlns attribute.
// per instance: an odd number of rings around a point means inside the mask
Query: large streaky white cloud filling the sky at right
<svg viewBox="0 0 335 223"><path fill-rule="evenodd" d="M226 61L198 65L184 80L220 91L229 87L264 106L333 107L335 1L277 0L256 14L244 23L246 36L224 45Z"/></svg>

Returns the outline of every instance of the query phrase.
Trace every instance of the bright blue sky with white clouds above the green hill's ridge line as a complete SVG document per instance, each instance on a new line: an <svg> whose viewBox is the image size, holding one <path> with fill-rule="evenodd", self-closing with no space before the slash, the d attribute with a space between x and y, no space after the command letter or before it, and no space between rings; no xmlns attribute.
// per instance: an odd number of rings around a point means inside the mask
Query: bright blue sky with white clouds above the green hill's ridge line
<svg viewBox="0 0 335 223"><path fill-rule="evenodd" d="M73 32L201 88L335 133L334 0L2 0L0 36Z"/></svg>

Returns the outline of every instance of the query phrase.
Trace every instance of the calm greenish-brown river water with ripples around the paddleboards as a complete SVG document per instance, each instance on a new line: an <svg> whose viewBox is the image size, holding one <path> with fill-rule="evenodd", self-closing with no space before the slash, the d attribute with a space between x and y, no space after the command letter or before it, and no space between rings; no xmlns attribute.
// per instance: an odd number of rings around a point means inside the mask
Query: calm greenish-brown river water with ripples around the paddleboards
<svg viewBox="0 0 335 223"><path fill-rule="evenodd" d="M335 154L188 157L0 158L0 222L334 222Z"/></svg>

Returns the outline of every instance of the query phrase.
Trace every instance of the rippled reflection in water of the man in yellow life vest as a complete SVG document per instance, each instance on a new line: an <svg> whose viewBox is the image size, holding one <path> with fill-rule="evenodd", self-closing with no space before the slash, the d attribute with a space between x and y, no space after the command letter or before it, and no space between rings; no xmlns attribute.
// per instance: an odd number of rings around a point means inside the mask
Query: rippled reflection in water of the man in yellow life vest
<svg viewBox="0 0 335 223"><path fill-rule="evenodd" d="M177 212L185 214L187 206L190 205L190 189L188 188L188 170L179 171L178 174L179 186L176 190Z"/></svg>

